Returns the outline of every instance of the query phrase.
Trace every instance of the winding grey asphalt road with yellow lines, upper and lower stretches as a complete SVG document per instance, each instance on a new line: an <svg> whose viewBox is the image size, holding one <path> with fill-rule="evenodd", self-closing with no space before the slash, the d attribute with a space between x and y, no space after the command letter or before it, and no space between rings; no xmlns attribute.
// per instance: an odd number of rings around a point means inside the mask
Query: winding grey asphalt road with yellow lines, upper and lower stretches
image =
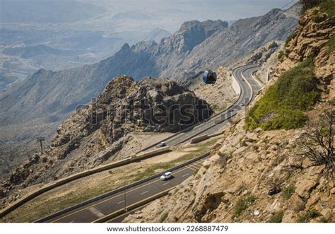
<svg viewBox="0 0 335 234"><path fill-rule="evenodd" d="M199 134L213 134L221 129L230 121L231 117L236 115L240 110L243 110L245 106L252 101L257 93L257 90L261 88L259 86L259 82L257 82L252 76L252 73L257 69L259 69L259 65L255 64L240 66L235 69L233 71L233 76L235 76L241 88L240 98L237 100L235 105L232 105L228 108L228 110L225 110L211 119L208 119L207 122L198 124L195 127L188 129L188 131L175 135L171 139L167 140L166 144L174 146L180 144L180 141L187 141ZM160 194L166 194L166 192L175 188L188 177L193 175L194 172L201 167L203 160L204 158L190 163L189 165L184 165L182 168L172 170L173 177L170 180L162 181L159 177L155 177L152 180L148 180L127 189L126 192L121 191L110 196L103 197L98 201L94 201L76 209L72 209L66 213L54 216L45 222L121 222L129 215L129 213L146 206L146 204L153 201L153 199L158 198Z"/></svg>

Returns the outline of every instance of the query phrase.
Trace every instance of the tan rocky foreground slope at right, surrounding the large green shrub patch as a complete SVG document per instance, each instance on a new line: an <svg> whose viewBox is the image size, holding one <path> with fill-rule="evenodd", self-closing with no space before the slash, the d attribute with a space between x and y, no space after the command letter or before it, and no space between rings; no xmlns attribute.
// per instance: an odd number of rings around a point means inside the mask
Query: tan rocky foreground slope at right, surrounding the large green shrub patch
<svg viewBox="0 0 335 234"><path fill-rule="evenodd" d="M319 122L329 105L334 105L332 38L334 17L319 8L307 10L278 64L277 76L313 56L315 76L323 91L315 110L307 113L310 121ZM310 126L246 132L244 120L241 114L225 129L212 156L193 177L125 221L334 222L334 180L325 173L324 164L313 165L299 156L300 139Z"/></svg>

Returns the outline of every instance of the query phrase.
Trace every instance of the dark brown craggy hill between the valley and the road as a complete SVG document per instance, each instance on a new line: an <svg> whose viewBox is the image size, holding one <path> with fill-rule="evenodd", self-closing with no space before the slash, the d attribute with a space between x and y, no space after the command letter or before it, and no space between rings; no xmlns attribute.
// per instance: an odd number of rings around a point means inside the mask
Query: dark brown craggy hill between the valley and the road
<svg viewBox="0 0 335 234"><path fill-rule="evenodd" d="M127 144L134 132L179 131L212 113L206 101L163 78L114 78L90 105L63 122L52 144L13 170L2 184L1 197L13 190L49 182L102 163L127 158L137 148ZM127 148L127 153L119 153ZM8 201L8 200L7 200Z"/></svg>

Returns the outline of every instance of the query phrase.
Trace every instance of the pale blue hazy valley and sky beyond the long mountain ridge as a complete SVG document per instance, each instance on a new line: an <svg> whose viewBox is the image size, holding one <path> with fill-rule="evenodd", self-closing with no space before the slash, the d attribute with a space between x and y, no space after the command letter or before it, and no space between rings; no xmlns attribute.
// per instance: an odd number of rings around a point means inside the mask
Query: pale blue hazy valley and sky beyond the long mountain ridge
<svg viewBox="0 0 335 234"><path fill-rule="evenodd" d="M184 21L233 22L283 4L286 1L1 0L0 92L37 69L93 64L126 42L159 42Z"/></svg>

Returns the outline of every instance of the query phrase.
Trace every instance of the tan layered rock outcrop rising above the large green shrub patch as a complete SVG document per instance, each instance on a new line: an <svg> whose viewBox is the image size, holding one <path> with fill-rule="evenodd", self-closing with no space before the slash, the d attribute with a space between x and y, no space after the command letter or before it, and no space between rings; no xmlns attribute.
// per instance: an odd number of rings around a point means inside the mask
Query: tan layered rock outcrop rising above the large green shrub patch
<svg viewBox="0 0 335 234"><path fill-rule="evenodd" d="M307 10L300 18L295 36L287 43L283 62L277 67L277 73L281 74L303 59L313 57L315 75L323 81L332 78L335 73L334 51L329 53L327 42L334 33L334 18L329 18L319 8Z"/></svg>

